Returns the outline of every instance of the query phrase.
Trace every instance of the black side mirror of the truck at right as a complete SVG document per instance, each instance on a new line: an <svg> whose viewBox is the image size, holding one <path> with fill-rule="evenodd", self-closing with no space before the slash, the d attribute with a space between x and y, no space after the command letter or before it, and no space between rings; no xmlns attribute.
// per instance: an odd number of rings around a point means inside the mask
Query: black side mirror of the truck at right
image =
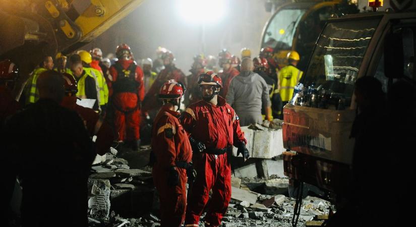
<svg viewBox="0 0 416 227"><path fill-rule="evenodd" d="M384 73L387 78L401 78L404 73L403 36L401 29L386 36L384 46Z"/></svg>

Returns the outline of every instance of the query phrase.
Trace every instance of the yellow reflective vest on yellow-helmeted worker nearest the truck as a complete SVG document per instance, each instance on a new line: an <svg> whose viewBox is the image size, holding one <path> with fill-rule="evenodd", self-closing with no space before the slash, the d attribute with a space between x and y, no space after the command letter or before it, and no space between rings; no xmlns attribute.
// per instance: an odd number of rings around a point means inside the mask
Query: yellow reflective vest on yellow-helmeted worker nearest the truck
<svg viewBox="0 0 416 227"><path fill-rule="evenodd" d="M280 97L283 102L292 98L294 86L299 83L302 74L302 71L292 65L285 66L279 71Z"/></svg>

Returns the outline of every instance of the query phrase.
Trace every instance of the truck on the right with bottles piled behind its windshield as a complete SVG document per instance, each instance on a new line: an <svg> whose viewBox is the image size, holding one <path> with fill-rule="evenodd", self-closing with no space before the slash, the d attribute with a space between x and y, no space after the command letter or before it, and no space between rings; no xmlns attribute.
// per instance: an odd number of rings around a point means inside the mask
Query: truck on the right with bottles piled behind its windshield
<svg viewBox="0 0 416 227"><path fill-rule="evenodd" d="M416 82L416 3L411 4L326 22L300 81L304 88L298 86L283 108L284 175L294 188L316 186L334 204L348 193L354 82L375 77L384 92L397 78Z"/></svg>

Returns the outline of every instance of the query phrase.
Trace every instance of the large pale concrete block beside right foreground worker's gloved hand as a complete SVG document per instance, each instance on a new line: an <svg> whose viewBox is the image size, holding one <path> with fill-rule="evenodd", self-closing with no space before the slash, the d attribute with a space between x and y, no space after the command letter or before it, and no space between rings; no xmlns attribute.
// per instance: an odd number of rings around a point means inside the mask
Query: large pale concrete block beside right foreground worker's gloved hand
<svg viewBox="0 0 416 227"><path fill-rule="evenodd" d="M247 149L250 157L272 158L280 155L283 148L282 129L252 130L248 126L241 127L247 139ZM232 155L237 156L237 148L233 148Z"/></svg>

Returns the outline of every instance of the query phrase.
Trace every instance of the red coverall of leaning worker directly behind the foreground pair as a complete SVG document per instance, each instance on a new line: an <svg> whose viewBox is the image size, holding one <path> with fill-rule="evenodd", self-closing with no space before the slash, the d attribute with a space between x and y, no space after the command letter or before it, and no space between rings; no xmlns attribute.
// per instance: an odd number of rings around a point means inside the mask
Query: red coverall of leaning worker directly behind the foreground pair
<svg viewBox="0 0 416 227"><path fill-rule="evenodd" d="M157 94L159 93L160 87L168 80L185 83L185 75L180 69L177 69L174 66L166 67L164 70L160 71L155 82L152 84L149 91L147 91L146 98L143 101L143 112L159 109L161 107Z"/></svg>

